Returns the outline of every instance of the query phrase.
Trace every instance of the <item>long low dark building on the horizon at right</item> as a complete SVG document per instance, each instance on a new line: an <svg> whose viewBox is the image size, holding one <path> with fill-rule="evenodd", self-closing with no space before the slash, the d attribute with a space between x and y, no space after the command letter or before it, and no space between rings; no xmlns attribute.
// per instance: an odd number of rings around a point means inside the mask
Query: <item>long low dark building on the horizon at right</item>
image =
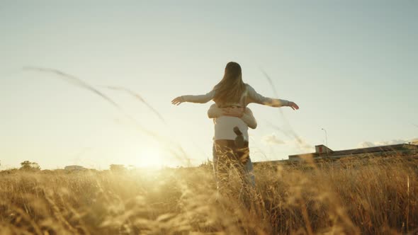
<svg viewBox="0 0 418 235"><path fill-rule="evenodd" d="M415 144L393 144L362 149L348 149L334 151L323 144L315 146L315 153L289 155L290 161L303 159L339 159L345 156L393 156L397 154L418 154L418 145Z"/></svg>

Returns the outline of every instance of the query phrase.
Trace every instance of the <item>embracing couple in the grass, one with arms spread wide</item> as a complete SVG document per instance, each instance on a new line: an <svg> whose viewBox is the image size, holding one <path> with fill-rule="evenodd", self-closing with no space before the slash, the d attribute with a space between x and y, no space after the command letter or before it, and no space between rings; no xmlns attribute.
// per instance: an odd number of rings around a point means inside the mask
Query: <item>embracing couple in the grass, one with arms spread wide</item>
<svg viewBox="0 0 418 235"><path fill-rule="evenodd" d="M213 170L218 190L222 193L227 188L230 169L237 171L242 185L254 185L254 176L249 175L252 173L252 162L249 159L248 127L255 129L257 124L247 105L289 106L293 110L298 110L298 105L292 101L261 96L252 86L244 84L241 67L236 62L227 63L225 75L209 93L179 96L171 103L207 103L211 100L215 104L210 106L208 117L213 118L215 124Z"/></svg>

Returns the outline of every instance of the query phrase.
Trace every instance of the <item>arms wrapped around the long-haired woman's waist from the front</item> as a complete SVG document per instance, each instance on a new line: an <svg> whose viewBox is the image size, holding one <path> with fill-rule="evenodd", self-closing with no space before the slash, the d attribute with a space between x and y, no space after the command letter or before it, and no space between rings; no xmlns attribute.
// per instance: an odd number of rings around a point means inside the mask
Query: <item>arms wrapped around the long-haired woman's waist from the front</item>
<svg viewBox="0 0 418 235"><path fill-rule="evenodd" d="M257 127L256 118L249 108L245 108L243 112L242 108L218 108L216 104L211 105L208 110L208 117L218 118L220 116L239 117L249 128L256 129Z"/></svg>

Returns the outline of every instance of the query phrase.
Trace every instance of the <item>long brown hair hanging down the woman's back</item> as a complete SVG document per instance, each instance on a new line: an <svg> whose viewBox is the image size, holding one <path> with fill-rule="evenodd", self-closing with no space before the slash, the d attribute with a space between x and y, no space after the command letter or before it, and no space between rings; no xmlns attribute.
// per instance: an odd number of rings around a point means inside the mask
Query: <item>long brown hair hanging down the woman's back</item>
<svg viewBox="0 0 418 235"><path fill-rule="evenodd" d="M236 62L229 62L225 67L225 75L213 89L215 90L213 97L215 103L220 105L239 103L246 89L242 81L241 66Z"/></svg>

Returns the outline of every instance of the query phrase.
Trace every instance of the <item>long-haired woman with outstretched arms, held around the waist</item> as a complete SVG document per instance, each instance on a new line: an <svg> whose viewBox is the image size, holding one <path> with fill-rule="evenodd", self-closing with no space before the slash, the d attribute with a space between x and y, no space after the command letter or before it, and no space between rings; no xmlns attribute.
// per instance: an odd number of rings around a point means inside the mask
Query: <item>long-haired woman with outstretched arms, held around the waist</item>
<svg viewBox="0 0 418 235"><path fill-rule="evenodd" d="M183 102L191 103L207 103L208 101L215 101L218 108L227 109L241 109L244 113L247 110L249 103L259 103L261 105L269 105L271 107L289 106L293 110L298 110L299 107L292 101L286 101L275 98L267 98L257 93L252 86L244 84L242 81L242 69L236 62L229 62L225 67L225 74L222 80L212 89L212 91L200 96L179 96L171 101L174 105L179 105ZM239 125L241 125L239 127ZM215 150L218 159L218 164L227 166L231 165L242 175L244 172L243 164L248 156L248 146L238 148L235 145L234 127L238 126L241 132L246 132L242 120L238 117L233 118L218 118L215 122ZM243 128L244 127L244 128ZM243 130L241 130L243 128ZM244 159L244 161L239 161ZM231 164L232 163L232 164ZM215 173L219 175L220 169L215 169ZM222 171L223 172L223 171ZM245 177L242 177L243 181ZM224 185L220 185L224 188Z"/></svg>

